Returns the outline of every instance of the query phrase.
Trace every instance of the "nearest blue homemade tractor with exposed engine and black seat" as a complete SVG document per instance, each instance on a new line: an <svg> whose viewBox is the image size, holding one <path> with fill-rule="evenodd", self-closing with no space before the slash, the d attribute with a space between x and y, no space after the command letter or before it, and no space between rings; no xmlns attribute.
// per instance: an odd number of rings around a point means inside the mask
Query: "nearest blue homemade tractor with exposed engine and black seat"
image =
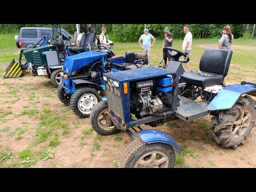
<svg viewBox="0 0 256 192"><path fill-rule="evenodd" d="M233 149L244 144L255 126L256 102L249 95L256 96L256 84L224 83L232 51L206 49L200 71L188 73L182 62L189 58L179 60L186 53L172 47L165 51L170 59L166 69L147 67L103 75L107 97L92 109L91 124L100 134L123 130L133 140L122 155L122 167L173 167L174 150L181 155L170 135L142 130L141 124L155 127L177 117L190 121L212 115L214 140Z"/></svg>

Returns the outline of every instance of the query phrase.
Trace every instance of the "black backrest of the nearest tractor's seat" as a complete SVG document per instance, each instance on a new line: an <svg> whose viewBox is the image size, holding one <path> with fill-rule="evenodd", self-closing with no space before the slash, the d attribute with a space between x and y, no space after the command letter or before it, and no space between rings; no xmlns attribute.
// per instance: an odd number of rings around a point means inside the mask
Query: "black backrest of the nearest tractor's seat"
<svg viewBox="0 0 256 192"><path fill-rule="evenodd" d="M205 49L200 60L201 71L223 75L226 77L233 52L220 49Z"/></svg>

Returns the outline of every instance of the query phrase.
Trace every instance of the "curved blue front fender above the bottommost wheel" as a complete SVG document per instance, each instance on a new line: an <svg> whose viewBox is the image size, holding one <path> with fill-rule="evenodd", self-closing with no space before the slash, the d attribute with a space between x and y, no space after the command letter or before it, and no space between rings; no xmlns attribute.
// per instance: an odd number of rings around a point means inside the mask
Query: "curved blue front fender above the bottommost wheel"
<svg viewBox="0 0 256 192"><path fill-rule="evenodd" d="M142 141L146 143L162 142L172 146L181 155L181 150L178 143L172 137L163 131L158 130L142 130L138 131Z"/></svg>

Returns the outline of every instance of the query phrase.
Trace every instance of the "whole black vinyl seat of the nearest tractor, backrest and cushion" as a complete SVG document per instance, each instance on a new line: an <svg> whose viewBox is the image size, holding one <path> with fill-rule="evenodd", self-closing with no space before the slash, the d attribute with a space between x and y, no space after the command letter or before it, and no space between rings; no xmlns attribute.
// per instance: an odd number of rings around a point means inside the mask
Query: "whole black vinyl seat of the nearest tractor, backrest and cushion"
<svg viewBox="0 0 256 192"><path fill-rule="evenodd" d="M180 76L183 82L199 87L220 85L228 74L233 52L219 49L205 49L199 63L202 73L191 71Z"/></svg>

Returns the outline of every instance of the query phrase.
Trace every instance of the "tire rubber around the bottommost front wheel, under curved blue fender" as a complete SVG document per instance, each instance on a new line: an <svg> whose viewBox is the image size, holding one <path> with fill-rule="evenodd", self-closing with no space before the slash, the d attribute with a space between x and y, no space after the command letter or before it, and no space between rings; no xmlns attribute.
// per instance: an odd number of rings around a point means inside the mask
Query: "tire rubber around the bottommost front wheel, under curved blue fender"
<svg viewBox="0 0 256 192"><path fill-rule="evenodd" d="M162 148L162 150L164 149L165 154L169 155L168 168L173 167L175 162L175 152L172 146L166 143L159 143L159 142L147 144L146 142L142 141L141 138L135 139L129 144L129 146L125 148L121 157L121 167L133 168L135 166L135 163L138 161L138 159L136 158L141 157L143 153L148 153L148 151L150 151L148 149L151 147L158 148L158 150L159 148Z"/></svg>

